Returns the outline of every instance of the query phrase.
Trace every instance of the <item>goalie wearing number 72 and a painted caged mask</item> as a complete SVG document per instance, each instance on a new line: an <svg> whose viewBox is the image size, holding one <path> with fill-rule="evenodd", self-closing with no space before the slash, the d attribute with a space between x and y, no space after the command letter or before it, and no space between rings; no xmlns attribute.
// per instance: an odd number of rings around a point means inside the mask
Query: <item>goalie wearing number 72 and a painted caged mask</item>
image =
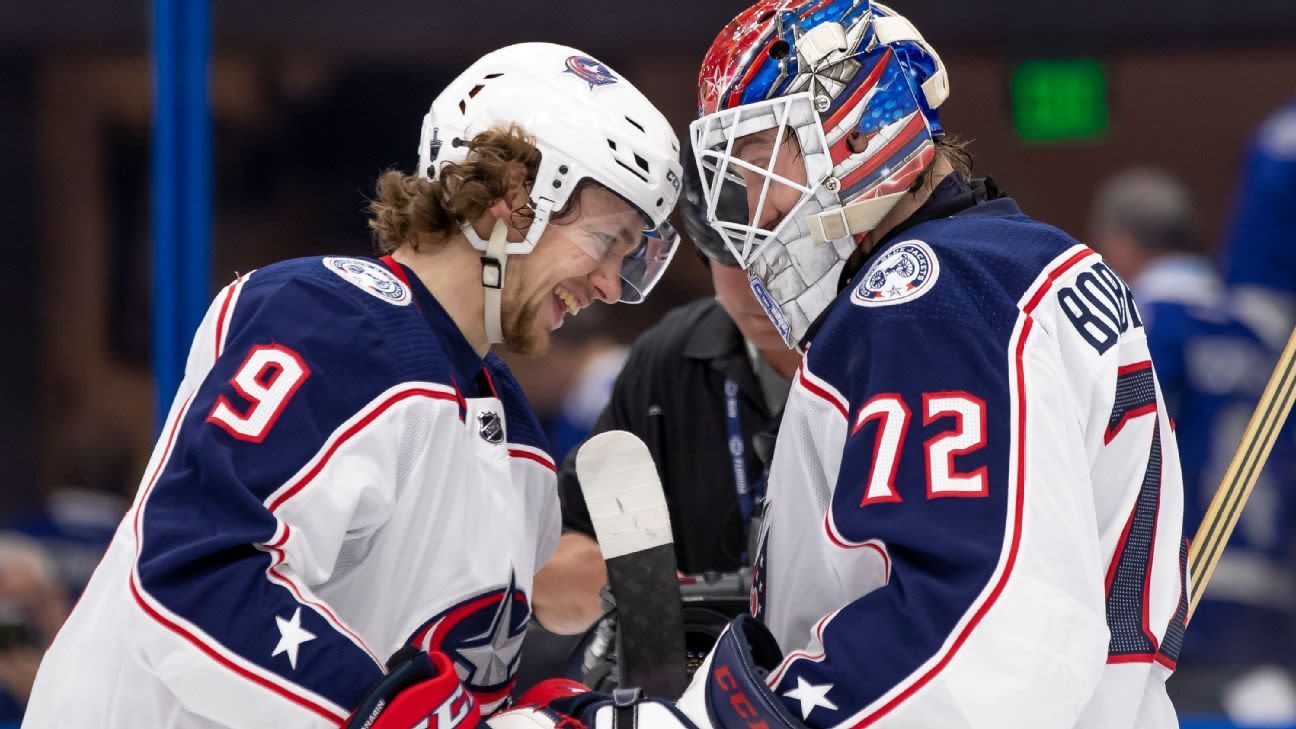
<svg viewBox="0 0 1296 729"><path fill-rule="evenodd" d="M1177 726L1182 486L1126 284L969 184L945 66L884 5L762 1L699 93L708 198L749 210L713 224L806 355L756 560L763 625L722 636L686 713Z"/></svg>

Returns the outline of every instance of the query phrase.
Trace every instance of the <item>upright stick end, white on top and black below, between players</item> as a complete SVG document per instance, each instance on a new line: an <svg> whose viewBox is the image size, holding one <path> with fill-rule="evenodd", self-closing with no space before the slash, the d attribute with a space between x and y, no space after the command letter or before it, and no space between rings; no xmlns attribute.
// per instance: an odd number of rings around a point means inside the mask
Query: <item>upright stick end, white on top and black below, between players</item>
<svg viewBox="0 0 1296 729"><path fill-rule="evenodd" d="M684 693L684 621L670 514L652 454L632 433L608 431L575 455L581 492L617 603L621 687L677 699Z"/></svg>

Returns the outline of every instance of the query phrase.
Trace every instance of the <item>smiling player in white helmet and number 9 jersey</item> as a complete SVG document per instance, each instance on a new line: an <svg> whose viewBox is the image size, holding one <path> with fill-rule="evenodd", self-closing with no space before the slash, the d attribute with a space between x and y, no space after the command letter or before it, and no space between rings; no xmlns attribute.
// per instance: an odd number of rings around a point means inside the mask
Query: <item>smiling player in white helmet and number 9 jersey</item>
<svg viewBox="0 0 1296 729"><path fill-rule="evenodd" d="M417 174L378 182L382 258L276 263L216 296L25 726L384 728L410 706L470 725L502 706L559 502L489 350L540 353L594 300L648 294L678 154L573 48L464 71ZM393 654L408 700L382 693Z"/></svg>

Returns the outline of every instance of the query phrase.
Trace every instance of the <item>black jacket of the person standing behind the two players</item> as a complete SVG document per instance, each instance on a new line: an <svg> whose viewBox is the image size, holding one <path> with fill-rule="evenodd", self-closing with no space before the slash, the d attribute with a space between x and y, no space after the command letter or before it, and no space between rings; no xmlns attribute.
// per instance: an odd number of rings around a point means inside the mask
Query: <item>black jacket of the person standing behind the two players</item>
<svg viewBox="0 0 1296 729"><path fill-rule="evenodd" d="M670 508L679 569L699 573L741 566L745 545L724 419L724 380L739 388L746 473L762 479L753 438L772 429L770 412L743 336L713 298L669 313L630 349L612 400L594 433L635 433L652 451ZM762 453L769 450L762 444ZM594 534L575 476L575 451L559 473L562 525Z"/></svg>

